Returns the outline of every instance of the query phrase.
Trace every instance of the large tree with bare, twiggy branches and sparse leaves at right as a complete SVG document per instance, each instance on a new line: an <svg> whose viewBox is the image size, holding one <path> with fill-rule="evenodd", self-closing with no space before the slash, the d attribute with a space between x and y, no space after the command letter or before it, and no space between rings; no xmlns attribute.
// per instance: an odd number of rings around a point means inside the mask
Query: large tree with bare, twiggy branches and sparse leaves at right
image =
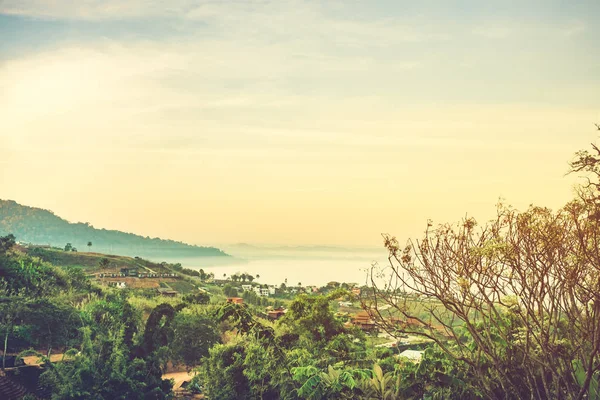
<svg viewBox="0 0 600 400"><path fill-rule="evenodd" d="M600 177L593 148L575 165ZM384 235L389 265L372 268L363 307L392 335L434 341L486 398L600 398L599 188L557 212L500 204L481 227L429 223L405 246Z"/></svg>

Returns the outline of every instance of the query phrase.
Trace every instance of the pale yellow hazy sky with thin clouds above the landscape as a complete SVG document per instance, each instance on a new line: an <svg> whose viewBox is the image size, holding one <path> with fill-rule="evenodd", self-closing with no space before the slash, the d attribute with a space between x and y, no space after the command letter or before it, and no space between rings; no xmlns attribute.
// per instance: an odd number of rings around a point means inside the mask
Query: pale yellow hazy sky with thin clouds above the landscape
<svg viewBox="0 0 600 400"><path fill-rule="evenodd" d="M199 244L556 208L600 1L0 0L0 198Z"/></svg>

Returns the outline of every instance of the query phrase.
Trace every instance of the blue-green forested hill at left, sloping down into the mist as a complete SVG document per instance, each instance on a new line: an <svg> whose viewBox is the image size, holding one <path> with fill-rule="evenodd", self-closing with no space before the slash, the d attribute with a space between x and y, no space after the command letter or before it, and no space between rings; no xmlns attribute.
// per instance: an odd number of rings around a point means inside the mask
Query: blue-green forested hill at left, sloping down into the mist
<svg viewBox="0 0 600 400"><path fill-rule="evenodd" d="M52 211L0 200L0 236L12 233L17 241L65 247L79 251L147 257L228 256L215 247L192 246L174 240L143 237L116 230L96 229L89 223L71 223ZM92 243L88 247L88 242Z"/></svg>

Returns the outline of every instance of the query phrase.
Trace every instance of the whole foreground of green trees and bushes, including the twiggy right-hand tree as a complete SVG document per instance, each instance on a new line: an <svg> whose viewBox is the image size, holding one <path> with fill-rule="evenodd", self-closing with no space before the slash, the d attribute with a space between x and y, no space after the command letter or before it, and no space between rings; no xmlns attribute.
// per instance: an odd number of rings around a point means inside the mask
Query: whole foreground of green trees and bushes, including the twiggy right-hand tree
<svg viewBox="0 0 600 400"><path fill-rule="evenodd" d="M202 272L185 277L197 290L165 297L101 285L90 269L43 261L5 235L0 390L29 399L600 399L600 150L579 152L571 169L587 184L557 211L499 204L481 225L429 224L406 245L384 236L390 267L374 266L360 294L333 282L237 304L239 276L223 286ZM365 322L338 302L360 305ZM268 318L265 306L286 312ZM398 346L377 346L376 332ZM409 336L423 340L409 345ZM19 363L27 356L37 368ZM173 390L175 367L192 372L185 391Z"/></svg>

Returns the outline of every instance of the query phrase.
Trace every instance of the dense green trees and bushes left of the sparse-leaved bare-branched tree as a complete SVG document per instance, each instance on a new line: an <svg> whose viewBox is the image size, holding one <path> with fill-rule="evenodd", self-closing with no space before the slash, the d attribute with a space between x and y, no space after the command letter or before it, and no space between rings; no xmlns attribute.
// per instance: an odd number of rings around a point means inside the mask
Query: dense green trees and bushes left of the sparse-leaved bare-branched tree
<svg viewBox="0 0 600 400"><path fill-rule="evenodd" d="M179 364L197 371L191 387L213 399L359 398L415 369L344 326L332 309L344 289L300 294L271 322L261 307L226 304L217 288L164 298L98 287L79 268L20 252L13 236L0 243L3 354L41 357L38 396L167 398L162 375Z"/></svg>

